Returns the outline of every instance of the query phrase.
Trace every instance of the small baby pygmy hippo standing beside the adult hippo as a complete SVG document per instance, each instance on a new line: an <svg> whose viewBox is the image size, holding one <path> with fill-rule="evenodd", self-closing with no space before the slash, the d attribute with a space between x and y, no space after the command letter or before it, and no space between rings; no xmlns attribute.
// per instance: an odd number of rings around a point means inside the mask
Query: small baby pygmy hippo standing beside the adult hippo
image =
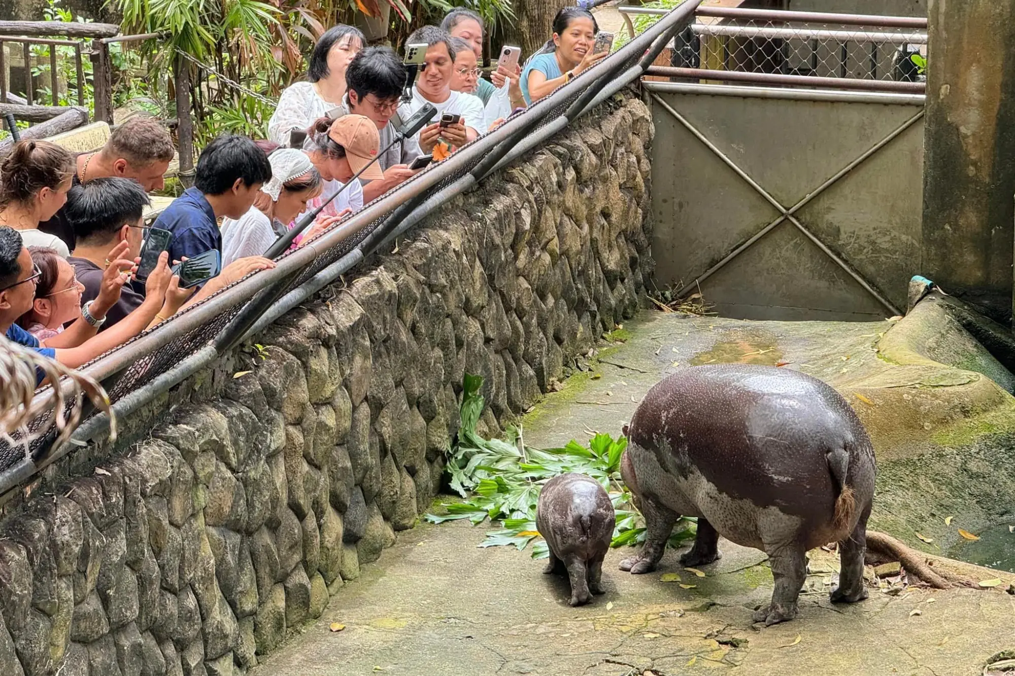
<svg viewBox="0 0 1015 676"><path fill-rule="evenodd" d="M602 594L603 557L615 523L613 503L599 482L584 474L561 474L543 485L536 503L536 528L546 539L550 560L543 572L561 565L570 579L570 605ZM590 594L590 590L592 594Z"/></svg>

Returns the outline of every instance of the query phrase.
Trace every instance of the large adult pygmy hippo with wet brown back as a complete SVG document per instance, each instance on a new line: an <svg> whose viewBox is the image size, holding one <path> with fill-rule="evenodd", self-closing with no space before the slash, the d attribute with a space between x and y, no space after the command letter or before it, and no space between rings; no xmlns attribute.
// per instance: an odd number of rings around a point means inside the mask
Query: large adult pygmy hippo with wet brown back
<svg viewBox="0 0 1015 676"><path fill-rule="evenodd" d="M768 554L775 589L754 620L793 619L806 552L838 542L832 601L860 601L874 449L847 401L799 371L716 364L653 387L631 419L621 475L645 515L645 547L620 563L648 572L680 515L698 518L684 565L718 559L719 536ZM629 432L629 433L628 433Z"/></svg>

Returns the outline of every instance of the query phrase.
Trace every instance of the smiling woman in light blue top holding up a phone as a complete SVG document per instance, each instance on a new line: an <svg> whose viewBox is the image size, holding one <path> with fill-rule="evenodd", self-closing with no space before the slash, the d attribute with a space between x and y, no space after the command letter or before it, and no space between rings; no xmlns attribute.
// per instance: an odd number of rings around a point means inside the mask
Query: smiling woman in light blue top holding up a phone
<svg viewBox="0 0 1015 676"><path fill-rule="evenodd" d="M530 106L609 55L594 54L599 24L592 12L564 7L553 18L553 38L522 70L522 93Z"/></svg>

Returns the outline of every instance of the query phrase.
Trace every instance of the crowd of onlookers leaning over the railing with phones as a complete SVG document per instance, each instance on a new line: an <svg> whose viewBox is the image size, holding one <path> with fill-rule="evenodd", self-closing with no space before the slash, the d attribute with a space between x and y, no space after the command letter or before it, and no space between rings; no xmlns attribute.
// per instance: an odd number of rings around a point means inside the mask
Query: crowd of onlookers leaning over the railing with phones
<svg viewBox="0 0 1015 676"><path fill-rule="evenodd" d="M16 143L0 163L0 331L77 367L274 267L265 254L280 238L306 245L606 56L594 54L592 14L570 7L539 53L525 64L498 62L487 80L484 29L477 14L454 9L439 26L413 32L407 45L425 46L413 83L391 48L365 46L352 26L330 28L306 81L282 92L269 138L211 141L193 187L151 225L148 193L163 187L175 152L162 123L132 118L101 149L76 155L44 140ZM427 105L436 115L403 135ZM313 223L291 236L308 214ZM143 265L153 232L165 246ZM183 264L209 255L218 261L209 276L182 281Z"/></svg>

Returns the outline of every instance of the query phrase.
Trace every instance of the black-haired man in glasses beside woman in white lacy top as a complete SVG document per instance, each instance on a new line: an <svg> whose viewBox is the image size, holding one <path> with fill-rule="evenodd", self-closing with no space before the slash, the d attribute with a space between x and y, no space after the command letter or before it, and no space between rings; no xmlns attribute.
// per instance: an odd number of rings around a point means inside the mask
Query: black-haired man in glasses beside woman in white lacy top
<svg viewBox="0 0 1015 676"><path fill-rule="evenodd" d="M387 148L397 132L391 120L398 113L399 98L405 87L406 70L398 55L389 47L367 47L355 56L345 70L346 94L342 99L345 113L362 115L377 125L381 134L381 149ZM404 119L408 119L406 112ZM413 174L409 168L422 155L415 137L402 140L381 155L378 163L384 179L363 183L363 202L399 185Z"/></svg>

